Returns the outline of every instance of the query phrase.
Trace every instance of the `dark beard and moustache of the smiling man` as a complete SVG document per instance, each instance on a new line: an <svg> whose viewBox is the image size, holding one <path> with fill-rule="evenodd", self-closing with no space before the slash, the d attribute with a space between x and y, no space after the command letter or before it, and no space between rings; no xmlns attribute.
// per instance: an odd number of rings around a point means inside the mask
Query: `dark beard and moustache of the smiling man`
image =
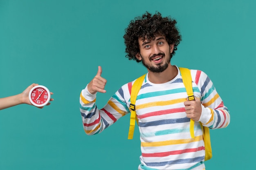
<svg viewBox="0 0 256 170"><path fill-rule="evenodd" d="M159 53L157 55L162 55L163 57L165 57L166 55L164 53ZM151 56L151 57L154 57L155 55ZM166 70L166 68L168 67L168 64L171 62L171 53L169 55L169 59L166 60L166 62L164 62L164 64L162 63L159 63L157 64L157 66L152 66L150 64L146 64L145 60L144 60L144 57L141 57L141 61L142 61L142 64L148 68L149 71L153 72L153 73L161 73L163 71ZM151 58L150 57L150 58Z"/></svg>

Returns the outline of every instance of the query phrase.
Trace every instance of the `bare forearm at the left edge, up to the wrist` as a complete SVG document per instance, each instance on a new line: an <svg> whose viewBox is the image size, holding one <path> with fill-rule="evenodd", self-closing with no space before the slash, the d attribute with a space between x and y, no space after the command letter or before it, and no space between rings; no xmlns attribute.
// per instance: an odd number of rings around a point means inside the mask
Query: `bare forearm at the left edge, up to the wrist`
<svg viewBox="0 0 256 170"><path fill-rule="evenodd" d="M22 103L22 94L0 98L0 110Z"/></svg>

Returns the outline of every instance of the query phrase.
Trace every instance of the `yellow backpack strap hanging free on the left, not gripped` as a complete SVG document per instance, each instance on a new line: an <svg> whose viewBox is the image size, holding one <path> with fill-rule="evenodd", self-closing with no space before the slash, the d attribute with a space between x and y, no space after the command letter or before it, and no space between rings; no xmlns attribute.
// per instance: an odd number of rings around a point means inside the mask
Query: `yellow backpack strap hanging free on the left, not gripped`
<svg viewBox="0 0 256 170"><path fill-rule="evenodd" d="M129 133L128 133L128 139L133 138L133 133L134 133L134 128L135 128L135 119L136 117L136 111L135 111L135 102L137 95L139 93L139 90L141 88L141 85L145 79L146 74L142 75L141 77L137 78L135 82L132 84L132 89L131 89L131 98L130 98L130 109L131 109L131 115L130 115L130 128L129 128Z"/></svg>

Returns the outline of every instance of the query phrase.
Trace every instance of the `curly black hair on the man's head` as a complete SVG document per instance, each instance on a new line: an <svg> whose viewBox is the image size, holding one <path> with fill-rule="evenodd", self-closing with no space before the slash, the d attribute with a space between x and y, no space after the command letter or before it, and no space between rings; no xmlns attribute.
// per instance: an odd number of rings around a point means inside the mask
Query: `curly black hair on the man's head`
<svg viewBox="0 0 256 170"><path fill-rule="evenodd" d="M138 39L142 38L142 41L155 40L158 35L163 35L166 38L168 44L174 44L171 57L175 54L178 44L182 40L180 32L175 26L176 20L170 16L162 17L162 14L156 12L154 15L151 13L144 13L142 16L136 17L135 20L131 20L128 27L125 29L124 43L126 45L125 52L126 57L129 60L138 60L135 55L139 53Z"/></svg>

